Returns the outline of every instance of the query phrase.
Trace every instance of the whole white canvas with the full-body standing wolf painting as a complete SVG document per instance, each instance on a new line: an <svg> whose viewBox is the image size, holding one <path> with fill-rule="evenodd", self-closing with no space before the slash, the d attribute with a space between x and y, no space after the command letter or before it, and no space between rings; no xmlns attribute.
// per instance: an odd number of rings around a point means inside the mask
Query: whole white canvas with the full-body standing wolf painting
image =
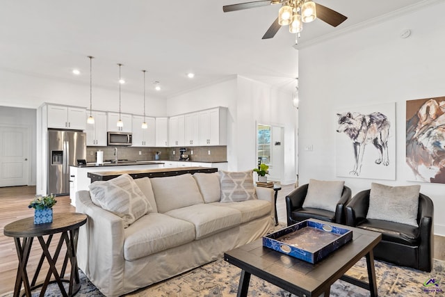
<svg viewBox="0 0 445 297"><path fill-rule="evenodd" d="M336 120L337 176L396 179L395 103L343 109Z"/></svg>

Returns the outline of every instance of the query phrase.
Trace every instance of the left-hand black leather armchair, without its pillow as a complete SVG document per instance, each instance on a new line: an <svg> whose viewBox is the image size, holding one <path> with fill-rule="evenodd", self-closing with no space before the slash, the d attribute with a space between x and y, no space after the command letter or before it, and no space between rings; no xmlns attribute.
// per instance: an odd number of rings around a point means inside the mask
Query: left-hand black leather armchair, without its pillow
<svg viewBox="0 0 445 297"><path fill-rule="evenodd" d="M307 188L309 184L303 184L298 188L294 189L286 195L286 213L287 213L287 225L293 225L295 223L301 222L302 220L307 220L308 218L316 218L318 220L326 220L327 222L344 224L345 214L344 206L351 197L350 188L343 186L343 193L341 193L341 198L337 203L337 207L334 211L328 211L325 209L316 209L310 207L302 207L303 202L305 202Z"/></svg>

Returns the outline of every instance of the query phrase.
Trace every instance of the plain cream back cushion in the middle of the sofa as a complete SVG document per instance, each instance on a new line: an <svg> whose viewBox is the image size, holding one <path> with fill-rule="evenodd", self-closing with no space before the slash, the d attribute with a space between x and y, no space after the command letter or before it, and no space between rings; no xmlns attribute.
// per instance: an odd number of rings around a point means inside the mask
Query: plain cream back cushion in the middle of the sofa
<svg viewBox="0 0 445 297"><path fill-rule="evenodd" d="M150 179L158 212L204 203L200 189L191 174Z"/></svg>

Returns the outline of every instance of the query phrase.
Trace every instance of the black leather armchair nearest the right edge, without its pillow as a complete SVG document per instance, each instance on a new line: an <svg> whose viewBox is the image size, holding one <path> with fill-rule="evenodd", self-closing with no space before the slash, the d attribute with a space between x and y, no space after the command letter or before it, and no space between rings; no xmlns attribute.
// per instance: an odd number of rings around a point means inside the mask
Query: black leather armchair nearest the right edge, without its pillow
<svg viewBox="0 0 445 297"><path fill-rule="evenodd" d="M370 191L361 191L348 202L346 224L382 233L382 241L373 250L375 259L430 272L434 248L432 200L422 193L419 194L419 227L414 227L388 220L366 218Z"/></svg>

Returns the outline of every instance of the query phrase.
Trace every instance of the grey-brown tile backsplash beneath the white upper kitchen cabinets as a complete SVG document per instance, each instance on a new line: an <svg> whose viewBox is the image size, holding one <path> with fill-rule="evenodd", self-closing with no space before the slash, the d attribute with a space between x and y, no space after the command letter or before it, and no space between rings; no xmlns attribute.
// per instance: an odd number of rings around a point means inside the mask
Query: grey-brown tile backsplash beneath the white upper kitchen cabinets
<svg viewBox="0 0 445 297"><path fill-rule="evenodd" d="M94 163L96 161L96 152L102 150L105 160L114 160L115 147L87 147L86 161ZM209 147L185 147L186 154L190 157L190 161L200 162L221 162L227 161L227 146L209 146ZM193 151L193 154L192 154ZM160 152L160 159L179 161L179 147L118 147L118 159L127 160L154 160L156 152ZM175 152L175 153L173 153ZM209 154L210 152L210 154ZM140 153L140 154L139 154Z"/></svg>

